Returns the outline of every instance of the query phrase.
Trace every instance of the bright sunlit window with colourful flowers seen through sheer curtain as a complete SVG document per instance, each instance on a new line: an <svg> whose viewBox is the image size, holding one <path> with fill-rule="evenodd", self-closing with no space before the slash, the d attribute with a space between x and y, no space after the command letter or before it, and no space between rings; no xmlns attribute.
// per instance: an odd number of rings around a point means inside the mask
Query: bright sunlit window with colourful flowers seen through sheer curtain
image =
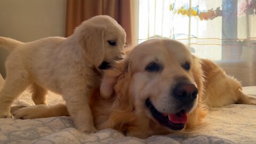
<svg viewBox="0 0 256 144"><path fill-rule="evenodd" d="M242 5L246 7L245 1L140 0L139 43L153 37L171 38L188 45L200 58L247 59L249 48L243 40L250 36L242 31L244 26L238 27L245 19L238 14L245 10L237 13Z"/></svg>

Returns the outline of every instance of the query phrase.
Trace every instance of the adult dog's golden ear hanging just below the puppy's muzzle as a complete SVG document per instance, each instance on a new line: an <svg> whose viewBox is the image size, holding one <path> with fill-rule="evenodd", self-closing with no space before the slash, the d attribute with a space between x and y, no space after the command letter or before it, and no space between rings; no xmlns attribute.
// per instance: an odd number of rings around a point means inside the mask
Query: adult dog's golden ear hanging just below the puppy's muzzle
<svg viewBox="0 0 256 144"><path fill-rule="evenodd" d="M127 71L129 60L124 59L116 61L111 69L104 71L104 76L100 85L100 95L103 99L108 99L114 92L114 86L118 82L118 78L121 77Z"/></svg>

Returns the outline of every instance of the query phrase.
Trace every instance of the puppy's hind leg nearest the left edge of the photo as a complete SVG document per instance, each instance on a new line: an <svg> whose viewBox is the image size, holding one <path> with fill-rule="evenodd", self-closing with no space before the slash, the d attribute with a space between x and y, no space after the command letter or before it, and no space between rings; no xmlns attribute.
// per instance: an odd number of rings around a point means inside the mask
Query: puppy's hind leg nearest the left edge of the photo
<svg viewBox="0 0 256 144"><path fill-rule="evenodd" d="M12 117L10 109L13 100L29 85L26 73L13 74L15 72L17 71L7 73L5 84L0 91L0 118Z"/></svg>

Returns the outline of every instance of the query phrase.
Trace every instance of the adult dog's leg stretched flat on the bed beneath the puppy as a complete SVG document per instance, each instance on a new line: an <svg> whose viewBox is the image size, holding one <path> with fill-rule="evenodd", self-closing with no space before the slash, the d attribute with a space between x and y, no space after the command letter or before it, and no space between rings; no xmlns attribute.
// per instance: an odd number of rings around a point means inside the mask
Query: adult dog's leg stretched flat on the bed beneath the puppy
<svg viewBox="0 0 256 144"><path fill-rule="evenodd" d="M13 116L20 119L69 116L65 103L57 105L35 105L14 111Z"/></svg>

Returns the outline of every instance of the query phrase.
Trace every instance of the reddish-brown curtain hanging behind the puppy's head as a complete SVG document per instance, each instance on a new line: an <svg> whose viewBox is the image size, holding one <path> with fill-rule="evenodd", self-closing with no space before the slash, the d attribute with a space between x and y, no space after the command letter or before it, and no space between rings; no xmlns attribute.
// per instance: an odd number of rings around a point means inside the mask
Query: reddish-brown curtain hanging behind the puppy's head
<svg viewBox="0 0 256 144"><path fill-rule="evenodd" d="M73 34L75 27L95 15L109 15L126 32L126 42L131 44L131 0L67 0L66 37Z"/></svg>

